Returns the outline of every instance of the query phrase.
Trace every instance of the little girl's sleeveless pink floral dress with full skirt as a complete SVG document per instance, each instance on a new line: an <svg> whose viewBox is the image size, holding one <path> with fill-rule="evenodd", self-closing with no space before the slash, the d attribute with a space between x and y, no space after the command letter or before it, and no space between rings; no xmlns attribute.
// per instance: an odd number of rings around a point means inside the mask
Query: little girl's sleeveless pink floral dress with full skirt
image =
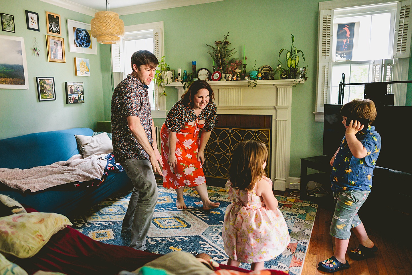
<svg viewBox="0 0 412 275"><path fill-rule="evenodd" d="M288 226L279 208L269 210L263 198L251 191L226 190L232 203L223 221L223 247L229 258L243 263L269 261L285 250L290 242Z"/></svg>

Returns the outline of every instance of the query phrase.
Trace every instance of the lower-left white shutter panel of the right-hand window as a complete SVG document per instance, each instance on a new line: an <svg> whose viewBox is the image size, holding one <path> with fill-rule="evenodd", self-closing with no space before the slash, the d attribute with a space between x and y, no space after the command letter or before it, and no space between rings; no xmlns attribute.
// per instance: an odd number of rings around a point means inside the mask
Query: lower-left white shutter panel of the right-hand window
<svg viewBox="0 0 412 275"><path fill-rule="evenodd" d="M316 91L316 111L323 112L324 105L328 103L330 93L330 81L332 78L332 63L318 63L318 83Z"/></svg>

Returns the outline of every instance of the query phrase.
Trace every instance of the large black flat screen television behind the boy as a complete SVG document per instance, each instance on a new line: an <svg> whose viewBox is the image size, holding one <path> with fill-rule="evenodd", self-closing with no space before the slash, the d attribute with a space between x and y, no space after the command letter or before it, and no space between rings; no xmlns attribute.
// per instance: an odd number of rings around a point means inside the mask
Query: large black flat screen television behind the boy
<svg viewBox="0 0 412 275"><path fill-rule="evenodd" d="M323 155L332 156L345 135L339 104L325 104L323 120ZM372 123L382 139L376 165L412 173L409 135L412 120L411 106L382 106Z"/></svg>

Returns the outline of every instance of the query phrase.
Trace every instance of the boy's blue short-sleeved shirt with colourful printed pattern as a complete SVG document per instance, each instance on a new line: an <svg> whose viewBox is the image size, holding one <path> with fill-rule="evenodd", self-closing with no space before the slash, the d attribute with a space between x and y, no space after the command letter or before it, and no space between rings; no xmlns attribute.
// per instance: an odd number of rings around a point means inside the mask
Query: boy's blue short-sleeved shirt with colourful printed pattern
<svg viewBox="0 0 412 275"><path fill-rule="evenodd" d="M368 190L372 187L372 172L381 149L381 136L374 126L369 126L356 134L368 155L356 158L352 155L346 136L340 143L330 174L331 189L338 193L344 190Z"/></svg>

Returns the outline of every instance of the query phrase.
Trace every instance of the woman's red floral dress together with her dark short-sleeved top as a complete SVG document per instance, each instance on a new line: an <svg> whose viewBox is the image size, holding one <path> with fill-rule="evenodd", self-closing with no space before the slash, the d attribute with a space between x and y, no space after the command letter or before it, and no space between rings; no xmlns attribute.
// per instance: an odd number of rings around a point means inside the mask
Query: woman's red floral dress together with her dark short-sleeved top
<svg viewBox="0 0 412 275"><path fill-rule="evenodd" d="M199 120L205 120L205 123L199 124ZM194 125L189 125L188 122L190 121L194 121ZM198 117L194 114L193 108L184 106L181 101L178 101L173 106L160 131L162 160L164 163L163 187L176 189L183 186L192 187L206 183L202 165L197 160L200 144L199 132L201 129L211 131L216 122L217 115L214 103L209 103ZM168 129L171 132L176 132L175 154L178 164L174 168L167 163L169 155Z"/></svg>

